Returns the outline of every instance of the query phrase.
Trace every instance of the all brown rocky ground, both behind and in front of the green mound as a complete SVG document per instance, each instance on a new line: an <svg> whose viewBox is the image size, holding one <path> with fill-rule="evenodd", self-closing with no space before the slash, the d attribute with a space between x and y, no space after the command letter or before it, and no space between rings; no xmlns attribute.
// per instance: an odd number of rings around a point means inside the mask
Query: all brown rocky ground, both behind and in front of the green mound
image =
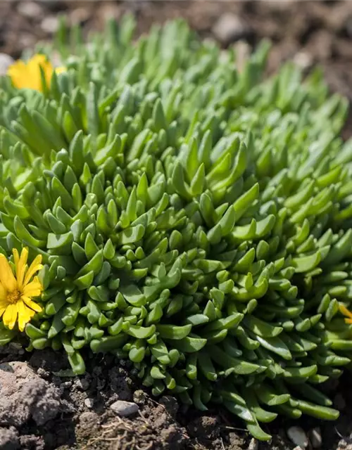
<svg viewBox="0 0 352 450"><path fill-rule="evenodd" d="M319 64L332 91L352 100L351 0L1 0L0 75L11 58L51 39L58 13L86 32L101 30L124 11L137 34L180 15L201 37L245 52L262 37L273 42L269 70L294 59ZM348 120L344 137L352 135ZM172 397L155 401L141 390L128 364L92 359L87 375L62 378L60 354L0 348L0 449L352 450L352 393L348 375L325 387L341 411L337 423L304 418L270 424L272 442L258 443L225 411L186 411Z"/></svg>

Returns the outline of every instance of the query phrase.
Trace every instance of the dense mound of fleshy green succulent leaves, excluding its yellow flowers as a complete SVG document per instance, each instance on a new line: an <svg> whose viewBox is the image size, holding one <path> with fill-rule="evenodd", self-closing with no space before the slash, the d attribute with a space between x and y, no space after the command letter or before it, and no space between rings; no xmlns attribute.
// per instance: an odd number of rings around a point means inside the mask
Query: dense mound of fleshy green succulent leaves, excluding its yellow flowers
<svg viewBox="0 0 352 450"><path fill-rule="evenodd" d="M277 414L337 418L319 385L352 356L346 101L291 65L264 80L266 44L239 71L183 22L133 26L62 28L44 94L0 81L1 252L44 264L44 310L1 343L63 347L76 374L112 352L258 439Z"/></svg>

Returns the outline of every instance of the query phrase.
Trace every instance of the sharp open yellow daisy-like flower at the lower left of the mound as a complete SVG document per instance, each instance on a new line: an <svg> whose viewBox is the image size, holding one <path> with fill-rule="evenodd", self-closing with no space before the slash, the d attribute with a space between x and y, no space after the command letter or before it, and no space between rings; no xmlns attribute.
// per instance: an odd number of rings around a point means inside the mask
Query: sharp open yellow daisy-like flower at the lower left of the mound
<svg viewBox="0 0 352 450"><path fill-rule="evenodd" d="M2 316L4 325L10 330L18 321L18 328L23 331L35 312L42 311L39 304L31 300L31 297L41 295L43 290L39 278L34 276L43 267L42 255L35 257L29 267L27 267L27 248L22 250L20 256L14 248L13 257L15 276L6 257L0 255L0 318Z"/></svg>

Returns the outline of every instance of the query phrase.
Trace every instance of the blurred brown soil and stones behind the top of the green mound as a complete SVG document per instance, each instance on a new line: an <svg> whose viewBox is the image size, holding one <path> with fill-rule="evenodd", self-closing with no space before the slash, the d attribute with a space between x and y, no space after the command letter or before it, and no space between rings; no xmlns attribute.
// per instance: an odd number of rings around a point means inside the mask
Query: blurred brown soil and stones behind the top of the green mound
<svg viewBox="0 0 352 450"><path fill-rule="evenodd" d="M306 70L319 64L332 91L352 100L352 0L0 0L0 74L8 56L51 39L61 13L89 32L125 11L136 16L137 34L183 17L201 37L243 54L267 37L270 71L288 59Z"/></svg>

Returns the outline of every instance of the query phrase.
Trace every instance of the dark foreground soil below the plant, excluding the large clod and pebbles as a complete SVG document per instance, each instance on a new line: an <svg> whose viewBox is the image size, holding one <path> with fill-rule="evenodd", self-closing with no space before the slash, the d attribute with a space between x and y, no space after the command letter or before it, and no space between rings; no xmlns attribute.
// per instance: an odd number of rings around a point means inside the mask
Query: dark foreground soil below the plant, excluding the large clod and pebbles
<svg viewBox="0 0 352 450"><path fill-rule="evenodd" d="M307 417L298 422L280 419L265 428L272 434L272 441L252 447L252 439L243 429L243 423L225 410L199 413L177 404L167 395L156 401L133 378L128 361L118 361L111 355L90 359L87 374L80 378L58 376L58 371L68 368L68 361L52 350L28 354L8 345L0 348L0 365L8 361L27 361L37 375L58 389L61 408L59 415L44 425L28 420L16 428L0 427L0 449L299 450L286 434L292 425L301 426L307 435L313 428L320 427L321 450L352 449L349 446L352 393L347 376L340 383L325 386L332 398L337 392L344 393L345 406L342 405L336 423L321 423ZM116 400L134 401L139 412L131 418L116 416L110 409ZM5 431L14 431L13 442L20 442L20 447L1 445L1 432ZM9 442L13 444L11 439Z"/></svg>

